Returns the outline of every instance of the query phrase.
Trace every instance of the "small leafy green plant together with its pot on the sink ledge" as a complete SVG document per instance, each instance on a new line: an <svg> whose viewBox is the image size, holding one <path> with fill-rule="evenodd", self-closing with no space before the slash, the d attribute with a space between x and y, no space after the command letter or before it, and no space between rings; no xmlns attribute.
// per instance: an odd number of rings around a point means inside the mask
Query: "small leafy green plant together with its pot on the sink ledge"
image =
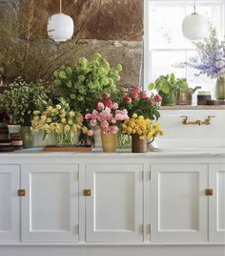
<svg viewBox="0 0 225 256"><path fill-rule="evenodd" d="M149 90L156 90L162 96L162 106L173 106L176 102L177 93L188 89L188 83L183 78L170 75L160 75L153 83L149 84Z"/></svg>

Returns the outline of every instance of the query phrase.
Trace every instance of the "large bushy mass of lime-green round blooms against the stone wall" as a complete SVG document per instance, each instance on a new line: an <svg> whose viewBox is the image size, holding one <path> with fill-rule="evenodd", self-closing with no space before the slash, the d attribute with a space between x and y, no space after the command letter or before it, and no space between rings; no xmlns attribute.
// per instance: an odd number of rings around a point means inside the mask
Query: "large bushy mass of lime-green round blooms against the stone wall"
<svg viewBox="0 0 225 256"><path fill-rule="evenodd" d="M94 102L101 99L103 93L116 91L116 83L120 80L118 64L111 68L109 62L99 53L94 53L92 60L85 57L78 59L75 67L62 66L54 73L54 82L59 85L72 108L85 112L92 110Z"/></svg>

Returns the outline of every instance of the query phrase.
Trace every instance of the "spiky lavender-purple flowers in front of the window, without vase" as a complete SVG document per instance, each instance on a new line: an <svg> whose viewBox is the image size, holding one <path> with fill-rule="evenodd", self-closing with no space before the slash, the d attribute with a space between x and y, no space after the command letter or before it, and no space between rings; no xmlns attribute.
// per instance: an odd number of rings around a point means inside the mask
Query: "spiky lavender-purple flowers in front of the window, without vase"
<svg viewBox="0 0 225 256"><path fill-rule="evenodd" d="M211 28L209 38L194 43L198 56L190 58L187 63L199 71L198 75L206 74L212 78L225 74L225 45L216 38L214 28Z"/></svg>

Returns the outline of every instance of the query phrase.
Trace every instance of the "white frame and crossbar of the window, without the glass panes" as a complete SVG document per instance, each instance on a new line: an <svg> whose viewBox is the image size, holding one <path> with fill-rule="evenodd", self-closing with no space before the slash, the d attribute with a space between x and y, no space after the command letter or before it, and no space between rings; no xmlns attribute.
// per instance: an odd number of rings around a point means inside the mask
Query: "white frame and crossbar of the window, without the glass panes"
<svg viewBox="0 0 225 256"><path fill-rule="evenodd" d="M151 42L149 40L150 30L149 30L149 11L151 5L155 6L183 6L186 5L188 7L194 6L193 0L144 0L144 75L143 75L143 82L144 87L147 87L150 82L153 81L153 73L152 73L152 62L153 62L153 52L157 51L185 51L187 56L187 51L193 51L194 49L191 48L174 48L174 49L157 49L151 48ZM220 9L220 32L218 34L219 39L222 39L223 36L225 37L225 0L197 0L196 8L199 6L215 6L221 5ZM187 13L188 15L189 13ZM181 24L180 24L181 26ZM187 75L187 69L186 69Z"/></svg>

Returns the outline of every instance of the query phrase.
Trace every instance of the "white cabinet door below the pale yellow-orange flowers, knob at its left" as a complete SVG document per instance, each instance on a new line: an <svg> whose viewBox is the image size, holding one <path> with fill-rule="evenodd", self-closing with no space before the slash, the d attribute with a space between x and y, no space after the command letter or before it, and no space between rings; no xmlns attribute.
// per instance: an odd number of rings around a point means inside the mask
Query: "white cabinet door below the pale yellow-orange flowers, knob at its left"
<svg viewBox="0 0 225 256"><path fill-rule="evenodd" d="M22 165L23 242L78 241L78 165Z"/></svg>

